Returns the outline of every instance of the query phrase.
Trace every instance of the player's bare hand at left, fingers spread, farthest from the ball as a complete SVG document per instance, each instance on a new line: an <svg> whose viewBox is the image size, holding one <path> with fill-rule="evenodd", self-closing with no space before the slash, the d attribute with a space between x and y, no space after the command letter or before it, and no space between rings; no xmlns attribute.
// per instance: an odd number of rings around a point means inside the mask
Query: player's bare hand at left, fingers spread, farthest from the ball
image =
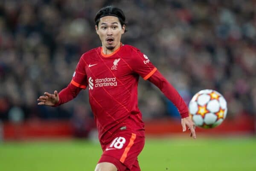
<svg viewBox="0 0 256 171"><path fill-rule="evenodd" d="M45 92L44 96L40 96L38 99L38 105L54 106L59 101L58 92L55 90L54 94Z"/></svg>

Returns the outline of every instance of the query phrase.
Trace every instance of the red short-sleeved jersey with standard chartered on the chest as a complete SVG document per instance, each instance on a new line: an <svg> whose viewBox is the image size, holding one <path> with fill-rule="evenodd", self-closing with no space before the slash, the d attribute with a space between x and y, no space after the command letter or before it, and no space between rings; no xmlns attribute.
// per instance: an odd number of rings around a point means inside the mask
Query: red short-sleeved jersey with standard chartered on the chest
<svg viewBox="0 0 256 171"><path fill-rule="evenodd" d="M90 106L102 144L109 143L120 128L137 134L144 130L137 86L140 76L147 80L156 70L146 55L130 45L121 44L110 55L98 47L81 56L71 84L89 87Z"/></svg>

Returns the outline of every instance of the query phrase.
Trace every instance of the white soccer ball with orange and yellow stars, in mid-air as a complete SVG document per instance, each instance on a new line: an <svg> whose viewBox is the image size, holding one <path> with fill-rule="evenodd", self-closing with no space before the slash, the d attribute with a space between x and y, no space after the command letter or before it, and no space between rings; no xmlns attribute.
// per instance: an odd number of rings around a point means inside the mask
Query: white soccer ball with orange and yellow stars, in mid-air
<svg viewBox="0 0 256 171"><path fill-rule="evenodd" d="M196 126L214 128L227 116L227 101L215 90L201 90L189 102L189 115Z"/></svg>

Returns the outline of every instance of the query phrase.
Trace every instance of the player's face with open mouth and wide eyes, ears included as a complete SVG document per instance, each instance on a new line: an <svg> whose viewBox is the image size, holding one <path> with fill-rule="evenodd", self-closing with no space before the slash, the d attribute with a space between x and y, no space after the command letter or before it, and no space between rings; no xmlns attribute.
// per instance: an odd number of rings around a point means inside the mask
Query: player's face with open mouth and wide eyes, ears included
<svg viewBox="0 0 256 171"><path fill-rule="evenodd" d="M121 26L117 17L101 17L95 29L104 49L113 52L119 48L121 36L125 32L125 25Z"/></svg>

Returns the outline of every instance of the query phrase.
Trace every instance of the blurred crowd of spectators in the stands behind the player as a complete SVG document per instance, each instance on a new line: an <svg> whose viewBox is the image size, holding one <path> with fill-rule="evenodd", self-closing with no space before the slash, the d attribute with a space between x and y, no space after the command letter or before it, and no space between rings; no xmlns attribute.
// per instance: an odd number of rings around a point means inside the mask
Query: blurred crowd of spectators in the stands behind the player
<svg viewBox="0 0 256 171"><path fill-rule="evenodd" d="M66 87L81 54L101 46L94 17L106 5L126 14L122 43L144 52L187 104L214 89L228 101L227 118L256 114L255 0L1 0L0 119L92 116L88 90L57 108L37 99ZM149 81L138 91L144 119L177 117Z"/></svg>

